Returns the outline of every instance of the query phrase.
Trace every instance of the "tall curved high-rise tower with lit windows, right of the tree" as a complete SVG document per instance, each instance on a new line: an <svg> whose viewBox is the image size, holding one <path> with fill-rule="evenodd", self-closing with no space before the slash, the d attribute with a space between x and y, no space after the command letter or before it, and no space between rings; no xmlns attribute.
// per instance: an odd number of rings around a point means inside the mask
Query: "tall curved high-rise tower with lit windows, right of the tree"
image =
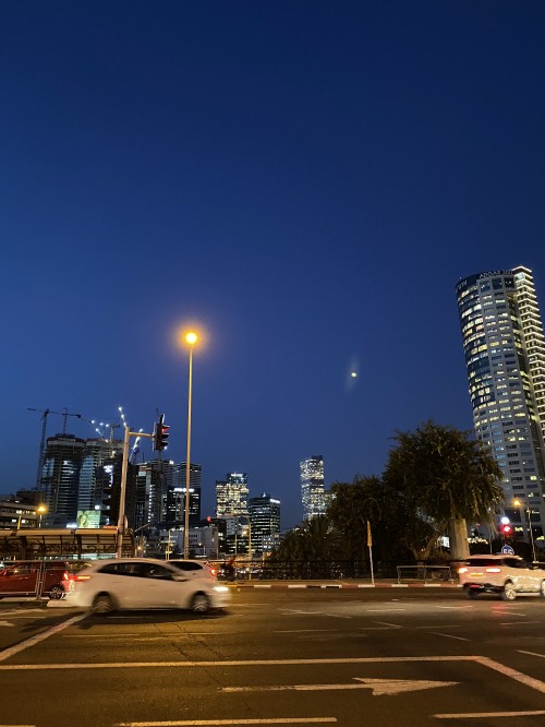
<svg viewBox="0 0 545 727"><path fill-rule="evenodd" d="M475 436L504 472L505 515L534 541L545 524L545 337L532 271L479 273L456 291Z"/></svg>

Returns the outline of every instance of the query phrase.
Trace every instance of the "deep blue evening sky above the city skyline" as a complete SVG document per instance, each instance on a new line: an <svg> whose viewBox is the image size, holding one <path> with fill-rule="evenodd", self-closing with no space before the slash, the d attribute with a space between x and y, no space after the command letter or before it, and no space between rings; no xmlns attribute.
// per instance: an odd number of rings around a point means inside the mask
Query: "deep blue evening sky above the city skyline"
<svg viewBox="0 0 545 727"><path fill-rule="evenodd" d="M541 0L1 3L0 492L27 407L159 409L184 460L189 320L203 514L242 470L291 526L305 456L470 428L457 281L524 264L545 306L544 37Z"/></svg>

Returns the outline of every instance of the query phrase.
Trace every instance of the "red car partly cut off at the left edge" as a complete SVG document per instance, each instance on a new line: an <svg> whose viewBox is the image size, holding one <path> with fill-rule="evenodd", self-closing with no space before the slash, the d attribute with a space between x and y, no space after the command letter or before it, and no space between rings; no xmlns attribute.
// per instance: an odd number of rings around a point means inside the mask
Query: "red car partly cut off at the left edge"
<svg viewBox="0 0 545 727"><path fill-rule="evenodd" d="M0 598L48 596L63 598L71 587L74 567L64 560L4 561L0 565Z"/></svg>

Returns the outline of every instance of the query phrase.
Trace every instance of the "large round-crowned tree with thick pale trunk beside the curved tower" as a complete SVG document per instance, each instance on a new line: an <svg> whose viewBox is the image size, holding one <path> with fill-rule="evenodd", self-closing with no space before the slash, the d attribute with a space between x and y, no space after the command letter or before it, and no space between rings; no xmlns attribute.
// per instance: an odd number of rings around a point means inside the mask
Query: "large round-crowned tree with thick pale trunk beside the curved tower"
<svg viewBox="0 0 545 727"><path fill-rule="evenodd" d="M465 521L494 524L504 500L504 474L489 450L470 436L433 421L414 432L396 432L398 445L390 450L384 480L404 501L409 517L428 526L426 534L414 522L416 532L404 533L416 560L429 557L449 526L451 558L467 558Z"/></svg>

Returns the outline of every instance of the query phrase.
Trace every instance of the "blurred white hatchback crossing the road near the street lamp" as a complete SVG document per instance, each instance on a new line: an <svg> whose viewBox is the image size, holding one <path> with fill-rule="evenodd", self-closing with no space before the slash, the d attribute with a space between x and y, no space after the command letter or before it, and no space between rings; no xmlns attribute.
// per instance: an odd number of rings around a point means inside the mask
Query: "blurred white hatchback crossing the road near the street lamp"
<svg viewBox="0 0 545 727"><path fill-rule="evenodd" d="M231 594L216 580L191 579L168 561L149 558L100 560L77 573L66 601L94 613L143 608L225 608Z"/></svg>

